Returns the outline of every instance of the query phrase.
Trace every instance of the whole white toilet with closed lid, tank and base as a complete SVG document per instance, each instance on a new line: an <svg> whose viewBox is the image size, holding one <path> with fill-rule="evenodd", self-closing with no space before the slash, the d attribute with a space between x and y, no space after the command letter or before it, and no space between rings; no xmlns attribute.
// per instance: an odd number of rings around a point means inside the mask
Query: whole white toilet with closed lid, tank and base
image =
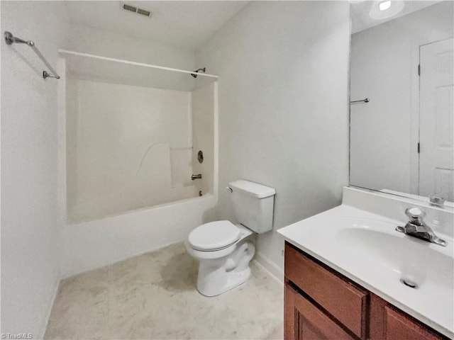
<svg viewBox="0 0 454 340"><path fill-rule="evenodd" d="M225 293L248 280L255 233L272 230L275 189L243 180L228 185L240 224L205 223L192 230L185 242L189 254L199 260L197 290L205 296Z"/></svg>

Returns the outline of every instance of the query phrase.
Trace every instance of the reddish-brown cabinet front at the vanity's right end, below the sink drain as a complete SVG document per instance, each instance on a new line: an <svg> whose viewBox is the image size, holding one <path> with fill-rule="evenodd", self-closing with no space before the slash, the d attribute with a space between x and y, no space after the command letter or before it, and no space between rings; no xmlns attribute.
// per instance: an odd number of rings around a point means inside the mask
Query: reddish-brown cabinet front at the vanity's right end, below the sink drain
<svg viewBox="0 0 454 340"><path fill-rule="evenodd" d="M420 322L397 310L376 295L371 298L371 340L442 340Z"/></svg>

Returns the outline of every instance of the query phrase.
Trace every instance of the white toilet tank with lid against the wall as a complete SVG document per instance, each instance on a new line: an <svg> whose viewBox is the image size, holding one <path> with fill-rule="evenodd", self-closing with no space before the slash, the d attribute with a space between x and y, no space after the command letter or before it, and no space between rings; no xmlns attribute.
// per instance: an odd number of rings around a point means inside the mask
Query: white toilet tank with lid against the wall
<svg viewBox="0 0 454 340"><path fill-rule="evenodd" d="M258 234L272 230L275 189L244 180L233 181L228 186L238 222Z"/></svg>

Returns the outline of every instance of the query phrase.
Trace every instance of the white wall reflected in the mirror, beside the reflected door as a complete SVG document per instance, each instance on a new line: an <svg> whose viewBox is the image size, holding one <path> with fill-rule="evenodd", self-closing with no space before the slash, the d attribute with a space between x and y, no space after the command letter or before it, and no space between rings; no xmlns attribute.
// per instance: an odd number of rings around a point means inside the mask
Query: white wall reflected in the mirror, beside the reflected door
<svg viewBox="0 0 454 340"><path fill-rule="evenodd" d="M350 184L418 193L419 46L453 30L443 1L352 35Z"/></svg>

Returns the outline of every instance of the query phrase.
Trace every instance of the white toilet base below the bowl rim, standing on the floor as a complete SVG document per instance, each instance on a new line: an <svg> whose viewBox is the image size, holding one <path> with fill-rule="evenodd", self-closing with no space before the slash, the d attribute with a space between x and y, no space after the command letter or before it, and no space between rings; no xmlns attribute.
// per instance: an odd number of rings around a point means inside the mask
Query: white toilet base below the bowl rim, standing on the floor
<svg viewBox="0 0 454 340"><path fill-rule="evenodd" d="M250 260L255 246L252 242L238 245L232 254L216 260L201 260L197 290L201 295L216 296L245 283L250 278Z"/></svg>

